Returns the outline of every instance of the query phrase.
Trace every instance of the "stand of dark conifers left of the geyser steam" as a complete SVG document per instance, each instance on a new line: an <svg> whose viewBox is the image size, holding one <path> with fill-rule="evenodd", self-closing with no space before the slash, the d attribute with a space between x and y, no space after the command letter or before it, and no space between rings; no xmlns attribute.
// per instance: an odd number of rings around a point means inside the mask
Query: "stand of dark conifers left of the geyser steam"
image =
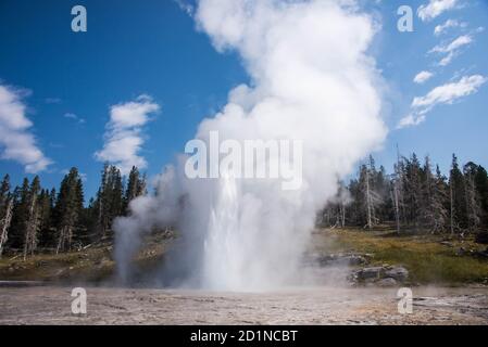
<svg viewBox="0 0 488 347"><path fill-rule="evenodd" d="M0 183L0 257L10 253L25 259L40 249L58 254L111 240L114 218L126 215L130 201L146 193L146 175L137 167L126 179L117 167L105 164L97 194L87 206L76 167L58 191L43 189L38 176L12 188L5 175Z"/></svg>

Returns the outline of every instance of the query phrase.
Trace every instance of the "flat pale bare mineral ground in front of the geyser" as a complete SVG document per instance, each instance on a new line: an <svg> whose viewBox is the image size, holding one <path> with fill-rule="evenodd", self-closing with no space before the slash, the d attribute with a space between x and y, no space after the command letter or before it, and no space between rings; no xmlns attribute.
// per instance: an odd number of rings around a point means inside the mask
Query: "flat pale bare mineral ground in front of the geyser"
<svg viewBox="0 0 488 347"><path fill-rule="evenodd" d="M488 324L486 288L413 290L412 314L396 288L314 287L273 293L87 288L87 314L70 287L0 288L0 324Z"/></svg>

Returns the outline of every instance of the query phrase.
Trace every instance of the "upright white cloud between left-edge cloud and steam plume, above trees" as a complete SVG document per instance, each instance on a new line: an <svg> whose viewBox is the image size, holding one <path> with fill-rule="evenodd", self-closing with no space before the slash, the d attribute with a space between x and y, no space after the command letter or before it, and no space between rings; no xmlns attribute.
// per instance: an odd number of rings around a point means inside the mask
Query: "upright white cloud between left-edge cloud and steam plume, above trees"
<svg viewBox="0 0 488 347"><path fill-rule="evenodd" d="M160 110L148 95L140 95L135 101L113 105L110 121L104 134L103 149L95 153L100 162L116 165L126 175L133 166L146 168L146 159L139 155L145 142L142 127L150 120L149 115Z"/></svg>

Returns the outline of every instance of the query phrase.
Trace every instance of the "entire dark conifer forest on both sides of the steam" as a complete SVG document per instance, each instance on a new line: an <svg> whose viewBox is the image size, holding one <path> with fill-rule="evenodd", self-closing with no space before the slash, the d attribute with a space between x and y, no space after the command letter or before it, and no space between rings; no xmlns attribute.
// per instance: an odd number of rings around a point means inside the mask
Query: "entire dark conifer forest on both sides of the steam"
<svg viewBox="0 0 488 347"><path fill-rule="evenodd" d="M112 222L128 214L130 201L150 194L146 175L133 167L128 177L105 164L95 197L85 202L82 176L73 167L59 189L41 187L38 176L0 187L0 257L62 253L112 240ZM155 194L151 192L151 194ZM356 178L340 182L334 202L317 214L327 228L391 226L397 232L464 235L488 227L488 174L473 162L460 166L455 155L445 176L427 156L400 157L387 174L370 156Z"/></svg>

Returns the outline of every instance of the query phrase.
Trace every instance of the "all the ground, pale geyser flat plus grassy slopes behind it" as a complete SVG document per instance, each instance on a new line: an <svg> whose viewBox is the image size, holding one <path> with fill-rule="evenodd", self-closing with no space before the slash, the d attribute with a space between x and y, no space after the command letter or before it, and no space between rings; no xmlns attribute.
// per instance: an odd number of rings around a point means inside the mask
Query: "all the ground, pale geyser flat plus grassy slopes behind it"
<svg viewBox="0 0 488 347"><path fill-rule="evenodd" d="M488 287L483 284L488 264L470 253L458 254L461 246L485 246L470 240L442 240L438 235L393 235L391 230L316 230L312 254L324 259L371 254L371 264L326 265L310 273L314 286L267 293L103 287L113 284L108 245L60 257L39 255L26 262L2 259L2 280L64 283L24 287L0 283L0 324L488 324ZM173 241L160 234L149 237L138 266L149 271L151 265L159 265ZM351 287L346 281L352 270L384 264L404 266L412 283L379 288ZM71 311L71 291L79 283L85 283L88 294L86 317ZM412 287L413 314L398 312L400 286Z"/></svg>

